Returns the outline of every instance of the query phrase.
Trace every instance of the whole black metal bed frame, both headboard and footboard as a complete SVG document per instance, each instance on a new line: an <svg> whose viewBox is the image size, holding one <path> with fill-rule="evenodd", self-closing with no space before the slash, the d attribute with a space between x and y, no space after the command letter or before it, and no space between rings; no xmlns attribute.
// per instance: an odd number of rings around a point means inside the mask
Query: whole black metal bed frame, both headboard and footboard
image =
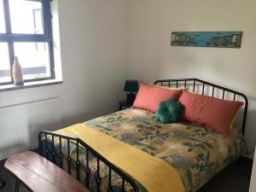
<svg viewBox="0 0 256 192"><path fill-rule="evenodd" d="M230 92L231 94L234 95L233 97L233 101L236 101L236 98L238 98L238 96L241 96L244 101L245 101L245 107L244 107L244 112L243 112L243 119L242 119L242 127L241 127L241 131L242 134L244 134L245 131L245 126L246 126L246 120L247 120L247 108L248 108L248 99L247 96L245 96L244 94L237 92L236 90L230 90L228 88L225 88L223 86L220 86L218 84L212 84L209 83L207 81L203 81L201 79L164 79L164 80L157 80L154 82L154 84L161 84L161 85L168 85L169 87L173 85L173 83L175 84L175 86L178 88L182 83L183 83L183 87L187 87L187 85L189 86L193 86L193 91L195 91L195 86L197 85L201 85L202 86L202 92L201 95L205 94L205 90L206 90L206 86L210 86L212 87L212 97L214 97L214 92L216 89L222 90L222 99L224 99L224 96L227 92ZM49 146L48 144L44 145L44 141L49 141L49 137L51 137L51 142L50 145L53 148L53 151L49 150ZM60 143L60 148L59 148L59 153L56 152L55 150L55 139L59 140ZM131 185L131 188L135 191L135 192L139 192L140 189L137 186L137 183L131 178L129 177L125 172L122 172L118 167L113 166L113 164L111 162L109 162L107 159L105 159L101 154L99 154L98 152L96 152L95 149L91 148L87 143L84 143L81 139L79 139L79 137L69 137L67 135L61 135L61 134L56 134L54 132L50 132L50 131L41 131L38 134L38 144L39 144L39 153L41 155L43 155L46 159L50 159L49 156L54 157L51 158L53 163L55 163L55 158L59 158L61 165L59 165L61 168L62 167L62 159L63 154L62 154L62 148L61 148L61 143L62 140L65 139L67 141L67 165L68 165L68 173L71 174L71 162L73 161L70 155L70 143L74 143L76 145L76 177L78 180L80 180L79 178L79 173L80 173L80 160L79 160L79 146L82 146L83 148L85 148L86 150L86 165L85 165L85 175L86 175L86 184L85 186L87 188L89 188L90 186L90 182L89 182L89 175L90 175L90 168L89 168L89 153L93 154L96 157L97 160L97 170L96 170L96 183L97 183L97 191L100 191L100 185L101 185L101 177L100 177L100 162L102 161L106 166L108 166L109 168L109 172L108 172L108 184L109 184L109 189L108 191L111 192L113 191L112 189L112 182L111 182L111 174L112 172L116 172L119 177L121 177L122 179L122 186L121 186L121 191L124 192L125 191L125 183L129 183ZM43 145L45 147L45 151L43 150ZM43 152L45 153L45 155L43 154ZM74 162L74 161L73 161ZM56 164L56 163L55 163Z"/></svg>

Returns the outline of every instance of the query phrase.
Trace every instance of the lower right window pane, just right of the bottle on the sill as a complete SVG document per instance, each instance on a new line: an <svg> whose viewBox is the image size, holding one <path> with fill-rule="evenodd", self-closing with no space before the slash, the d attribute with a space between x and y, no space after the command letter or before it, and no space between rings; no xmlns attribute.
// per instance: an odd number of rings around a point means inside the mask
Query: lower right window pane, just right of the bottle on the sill
<svg viewBox="0 0 256 192"><path fill-rule="evenodd" d="M15 56L18 56L25 80L50 77L48 43L15 43Z"/></svg>

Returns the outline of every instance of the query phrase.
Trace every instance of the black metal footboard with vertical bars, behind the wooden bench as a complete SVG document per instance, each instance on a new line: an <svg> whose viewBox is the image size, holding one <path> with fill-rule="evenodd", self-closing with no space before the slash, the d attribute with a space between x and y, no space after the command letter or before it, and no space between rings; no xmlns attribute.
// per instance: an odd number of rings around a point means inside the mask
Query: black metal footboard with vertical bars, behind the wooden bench
<svg viewBox="0 0 256 192"><path fill-rule="evenodd" d="M49 141L49 138L51 137L51 147L53 149L53 151L49 150L49 146L46 143L44 145L45 147L45 154L43 154L43 142L44 141ZM55 137L57 137L59 139L59 143L60 143L60 152L56 153L55 151ZM63 154L62 154L62 147L61 147L61 143L63 141L63 139L67 140L67 165L68 165L68 173L71 175L71 162L72 162L72 158L70 155L70 143L74 143L76 145L76 178L80 181L80 160L79 160L79 146L82 146L83 148L85 148L86 150L86 168L85 168L85 175L86 175L86 184L85 186L87 188L90 187L90 182L89 182L89 176L90 176L90 168L89 168L89 153L93 154L96 157L96 161L97 161L97 169L96 169L96 184L97 184L97 191L100 192L100 185L101 185L101 177L100 177L100 162L102 161L106 166L108 166L108 186L109 192L112 192L112 182L111 182L111 176L112 176L112 172L115 172L119 175L119 177L121 177L122 179L122 186L121 186L121 191L125 192L125 183L129 183L131 185L131 188L135 191L135 192L139 192L139 188L137 187L137 183L131 179L131 177L129 177L128 175L125 174L125 172L122 172L118 167L113 166L113 164L111 162L109 162L107 159L105 159L101 154L99 154L98 152L96 152L95 149L91 148L87 143L84 143L81 139L79 139L79 137L70 137L67 135L62 135L62 134L57 134L51 131L40 131L38 134L38 144L39 144L39 154L41 154L42 156L44 156L46 159L49 160L49 155L51 155L52 158L51 161L55 164L55 157L56 155L58 155L57 157L60 159L61 164L59 165L61 167L61 169L63 168L62 166L62 158L63 158ZM51 154L49 154L51 153Z"/></svg>

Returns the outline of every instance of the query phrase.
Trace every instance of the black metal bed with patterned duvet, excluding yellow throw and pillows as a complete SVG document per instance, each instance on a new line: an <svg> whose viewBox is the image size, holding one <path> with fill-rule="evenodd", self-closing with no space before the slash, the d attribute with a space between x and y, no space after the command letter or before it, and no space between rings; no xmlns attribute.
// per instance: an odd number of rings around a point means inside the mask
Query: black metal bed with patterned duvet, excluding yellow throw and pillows
<svg viewBox="0 0 256 192"><path fill-rule="evenodd" d="M167 79L158 80L155 84L187 87L202 95L243 100L245 107L241 112L241 127L235 126L228 137L223 137L198 125L161 124L154 113L136 108L91 119L84 125L164 160L177 169L185 191L194 192L225 166L239 159L244 148L247 97L200 79ZM91 191L147 191L136 179L114 166L79 137L41 131L38 141L44 157L77 177Z"/></svg>

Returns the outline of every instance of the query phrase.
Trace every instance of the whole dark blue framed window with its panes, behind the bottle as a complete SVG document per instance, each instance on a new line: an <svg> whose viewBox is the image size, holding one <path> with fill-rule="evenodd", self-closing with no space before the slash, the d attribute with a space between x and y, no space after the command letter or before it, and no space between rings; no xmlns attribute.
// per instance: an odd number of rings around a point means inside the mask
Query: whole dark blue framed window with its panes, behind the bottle
<svg viewBox="0 0 256 192"><path fill-rule="evenodd" d="M25 82L55 79L50 0L0 0L0 84L13 84L19 58Z"/></svg>

